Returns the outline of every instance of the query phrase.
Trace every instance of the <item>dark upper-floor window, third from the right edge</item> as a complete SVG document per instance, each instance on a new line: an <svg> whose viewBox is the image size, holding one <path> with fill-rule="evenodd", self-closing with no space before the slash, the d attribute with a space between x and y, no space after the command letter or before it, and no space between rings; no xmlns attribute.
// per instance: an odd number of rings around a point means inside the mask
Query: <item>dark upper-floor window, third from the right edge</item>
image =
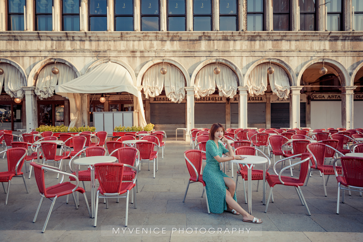
<svg viewBox="0 0 363 242"><path fill-rule="evenodd" d="M300 7L300 30L315 31L315 0L299 0Z"/></svg>

